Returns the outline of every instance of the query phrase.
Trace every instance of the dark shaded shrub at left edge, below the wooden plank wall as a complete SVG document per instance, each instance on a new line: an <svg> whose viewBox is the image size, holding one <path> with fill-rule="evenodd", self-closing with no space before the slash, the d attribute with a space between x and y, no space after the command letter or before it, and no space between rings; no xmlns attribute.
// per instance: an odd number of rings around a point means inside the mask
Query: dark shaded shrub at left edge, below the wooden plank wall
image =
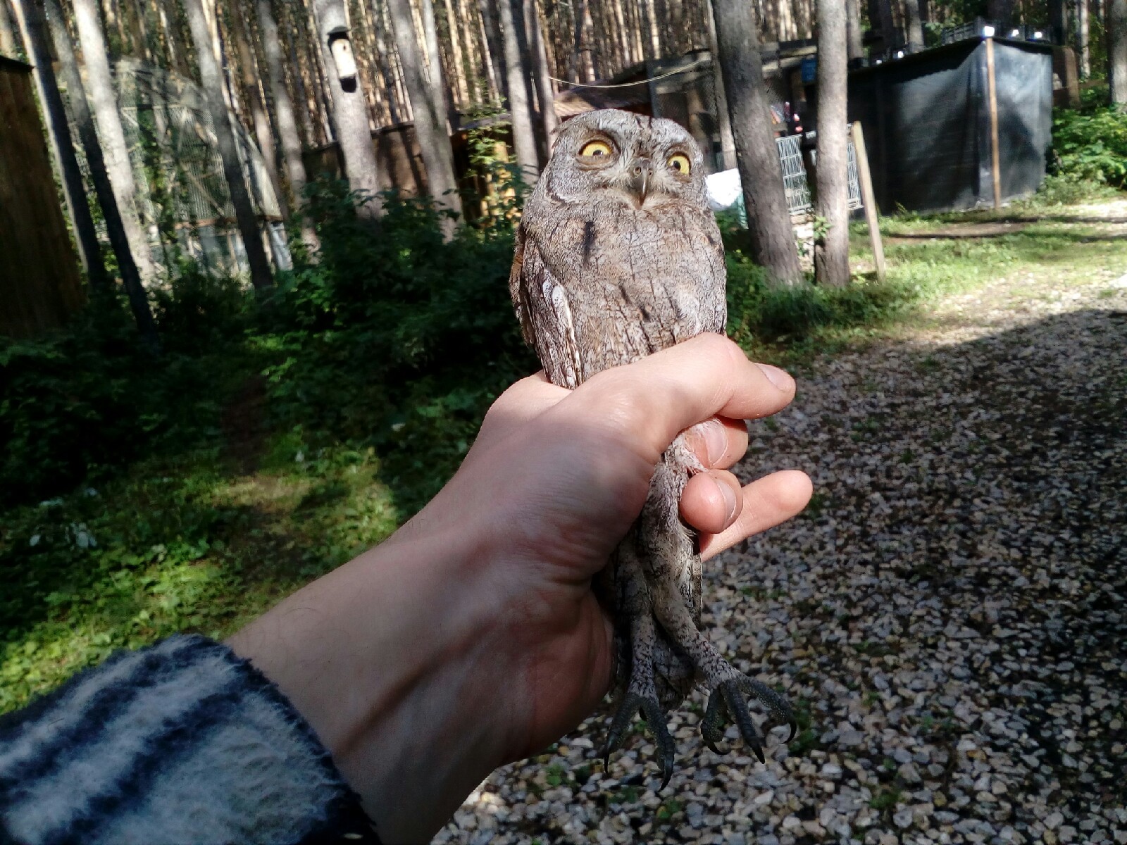
<svg viewBox="0 0 1127 845"><path fill-rule="evenodd" d="M115 295L95 297L63 330L0 338L0 507L218 436L224 389L245 366L245 294L190 275L154 299L159 358Z"/></svg>

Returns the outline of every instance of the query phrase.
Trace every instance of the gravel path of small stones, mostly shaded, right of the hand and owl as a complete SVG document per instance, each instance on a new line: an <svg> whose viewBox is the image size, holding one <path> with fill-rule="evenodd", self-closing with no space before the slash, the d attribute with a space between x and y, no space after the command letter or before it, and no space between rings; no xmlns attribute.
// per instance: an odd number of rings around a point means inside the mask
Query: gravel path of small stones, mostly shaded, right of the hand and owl
<svg viewBox="0 0 1127 845"><path fill-rule="evenodd" d="M799 709L789 747L712 754L696 695L655 794L592 720L436 842L1127 843L1125 272L949 299L753 426L747 478L817 493L706 566L704 625Z"/></svg>

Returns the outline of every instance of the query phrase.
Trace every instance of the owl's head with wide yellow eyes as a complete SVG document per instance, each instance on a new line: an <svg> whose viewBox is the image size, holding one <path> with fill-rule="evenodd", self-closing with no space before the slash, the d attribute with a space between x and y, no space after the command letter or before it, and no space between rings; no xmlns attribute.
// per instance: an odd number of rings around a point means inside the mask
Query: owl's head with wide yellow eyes
<svg viewBox="0 0 1127 845"><path fill-rule="evenodd" d="M613 108L587 112L560 130L540 189L565 203L699 206L704 202L703 155L687 130L673 121Z"/></svg>

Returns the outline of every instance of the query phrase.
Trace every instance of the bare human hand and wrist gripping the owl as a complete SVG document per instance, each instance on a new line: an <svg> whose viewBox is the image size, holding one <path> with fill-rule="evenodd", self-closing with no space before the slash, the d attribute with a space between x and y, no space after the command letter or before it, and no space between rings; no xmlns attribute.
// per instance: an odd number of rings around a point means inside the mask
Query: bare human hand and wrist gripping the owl
<svg viewBox="0 0 1127 845"><path fill-rule="evenodd" d="M690 442L709 470L681 501L703 557L806 505L804 473L740 488L727 471L747 445L739 420L793 392L715 335L575 391L524 379L414 519L232 646L307 717L381 835L420 840L489 771L558 739L606 692L611 625L591 579L680 432L704 422Z"/></svg>

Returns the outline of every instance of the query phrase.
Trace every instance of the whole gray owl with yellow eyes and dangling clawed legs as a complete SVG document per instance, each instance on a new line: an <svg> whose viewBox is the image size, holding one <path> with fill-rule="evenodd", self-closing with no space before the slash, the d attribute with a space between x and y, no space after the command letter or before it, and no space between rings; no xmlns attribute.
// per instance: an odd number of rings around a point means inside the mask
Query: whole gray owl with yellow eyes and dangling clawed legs
<svg viewBox="0 0 1127 845"><path fill-rule="evenodd" d="M576 388L700 332L722 333L725 278L703 157L684 128L613 109L564 126L525 203L509 275L524 338L554 384ZM772 723L795 731L787 703L733 668L700 631L701 559L678 501L703 469L678 436L595 585L616 632L618 710L604 754L622 746L640 712L655 736L663 788L674 759L665 712L694 684L709 691L701 732L713 750L727 713L763 760L745 694L767 708Z"/></svg>

